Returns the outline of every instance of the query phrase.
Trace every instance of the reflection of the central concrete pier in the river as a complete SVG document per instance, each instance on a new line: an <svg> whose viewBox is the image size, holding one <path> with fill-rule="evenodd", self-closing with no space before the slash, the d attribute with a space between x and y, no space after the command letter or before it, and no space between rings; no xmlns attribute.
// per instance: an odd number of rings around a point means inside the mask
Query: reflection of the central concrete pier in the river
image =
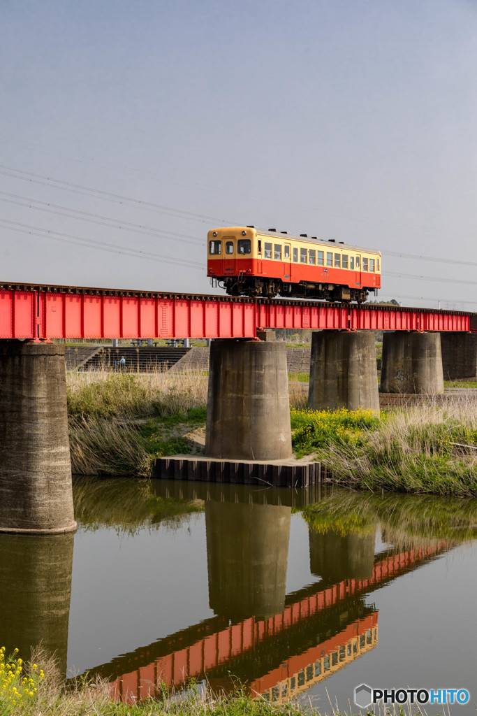
<svg viewBox="0 0 477 716"><path fill-rule="evenodd" d="M229 619L268 619L285 606L290 507L205 503L209 603Z"/></svg>

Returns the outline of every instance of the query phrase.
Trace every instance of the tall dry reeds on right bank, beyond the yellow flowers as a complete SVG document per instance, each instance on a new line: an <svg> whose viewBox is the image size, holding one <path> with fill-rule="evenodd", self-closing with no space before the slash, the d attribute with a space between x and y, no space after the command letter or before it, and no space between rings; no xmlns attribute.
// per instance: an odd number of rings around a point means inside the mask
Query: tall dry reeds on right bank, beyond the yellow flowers
<svg viewBox="0 0 477 716"><path fill-rule="evenodd" d="M363 448L330 443L320 457L342 484L370 490L477 496L477 401L429 397L388 413Z"/></svg>

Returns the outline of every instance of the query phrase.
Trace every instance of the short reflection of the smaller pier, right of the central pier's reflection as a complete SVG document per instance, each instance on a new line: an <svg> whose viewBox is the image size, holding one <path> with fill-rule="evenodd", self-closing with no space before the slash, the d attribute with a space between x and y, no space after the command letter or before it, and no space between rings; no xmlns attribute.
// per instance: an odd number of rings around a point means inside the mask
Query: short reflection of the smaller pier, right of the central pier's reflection
<svg viewBox="0 0 477 716"><path fill-rule="evenodd" d="M369 579L374 566L374 530L370 533L310 529L310 571L325 584L342 579Z"/></svg>

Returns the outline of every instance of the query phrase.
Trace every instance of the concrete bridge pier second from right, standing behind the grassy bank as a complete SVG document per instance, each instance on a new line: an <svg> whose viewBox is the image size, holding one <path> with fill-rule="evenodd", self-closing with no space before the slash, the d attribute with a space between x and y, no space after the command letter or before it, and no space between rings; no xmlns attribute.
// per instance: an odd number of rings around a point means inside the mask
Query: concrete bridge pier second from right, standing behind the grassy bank
<svg viewBox="0 0 477 716"><path fill-rule="evenodd" d="M381 390L385 393L443 393L441 334L385 333Z"/></svg>

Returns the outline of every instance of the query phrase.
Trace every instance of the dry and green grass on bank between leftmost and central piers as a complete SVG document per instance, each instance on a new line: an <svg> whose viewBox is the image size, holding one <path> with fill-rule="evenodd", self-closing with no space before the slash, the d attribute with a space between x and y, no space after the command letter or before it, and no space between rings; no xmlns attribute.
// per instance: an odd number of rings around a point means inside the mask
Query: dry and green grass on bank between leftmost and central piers
<svg viewBox="0 0 477 716"><path fill-rule="evenodd" d="M73 472L145 477L154 458L200 449L187 435L205 426L207 384L195 374L69 372ZM307 397L290 382L292 407L305 407Z"/></svg>

